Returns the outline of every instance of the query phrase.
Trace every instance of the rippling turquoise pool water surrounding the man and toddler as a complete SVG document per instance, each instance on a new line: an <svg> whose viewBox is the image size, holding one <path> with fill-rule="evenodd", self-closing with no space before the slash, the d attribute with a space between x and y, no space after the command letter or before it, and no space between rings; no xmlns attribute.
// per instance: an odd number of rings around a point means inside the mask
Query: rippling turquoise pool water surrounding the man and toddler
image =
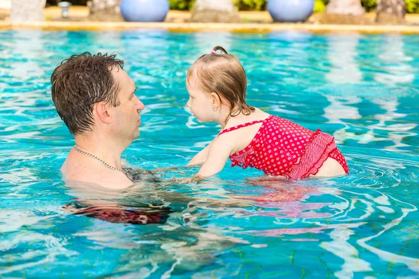
<svg viewBox="0 0 419 279"><path fill-rule="evenodd" d="M64 186L73 138L50 98L57 63L119 52L146 106L123 158L182 166L219 130L185 107L186 70L214 45L244 63L251 105L334 135L351 173L264 181L228 165L198 185L165 182L197 171L179 169L124 193ZM418 45L399 35L0 31L0 278L419 278ZM91 218L74 209L86 200L159 220Z"/></svg>

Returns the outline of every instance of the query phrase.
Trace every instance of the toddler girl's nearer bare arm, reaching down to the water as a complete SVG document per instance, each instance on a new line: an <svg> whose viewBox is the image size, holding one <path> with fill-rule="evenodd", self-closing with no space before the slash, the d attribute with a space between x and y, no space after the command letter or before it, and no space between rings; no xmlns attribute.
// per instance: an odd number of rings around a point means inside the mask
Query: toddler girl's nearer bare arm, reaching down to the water
<svg viewBox="0 0 419 279"><path fill-rule="evenodd" d="M218 172L221 172L224 165L228 160L228 156L233 149L231 141L221 140L216 138L209 146L207 152L207 160L200 168L198 176L212 176Z"/></svg>

